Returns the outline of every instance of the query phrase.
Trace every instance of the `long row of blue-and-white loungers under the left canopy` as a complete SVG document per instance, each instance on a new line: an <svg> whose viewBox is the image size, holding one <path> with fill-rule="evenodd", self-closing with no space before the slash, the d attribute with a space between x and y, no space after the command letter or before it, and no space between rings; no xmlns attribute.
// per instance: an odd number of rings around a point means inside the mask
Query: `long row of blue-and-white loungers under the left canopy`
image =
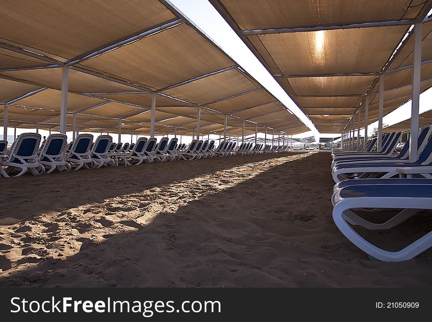
<svg viewBox="0 0 432 322"><path fill-rule="evenodd" d="M138 165L142 163L193 160L216 156L277 153L291 149L288 146L271 146L222 141L216 148L214 140L192 140L187 146L177 138L139 138L136 143L113 143L109 135L100 135L93 142L92 134L81 133L67 143L64 134L51 134L39 148L40 134L24 133L7 150L7 141L0 141L0 176L19 176L27 171L33 175L81 168L102 166ZM16 173L16 170L19 173ZM49 169L47 171L47 169Z"/></svg>

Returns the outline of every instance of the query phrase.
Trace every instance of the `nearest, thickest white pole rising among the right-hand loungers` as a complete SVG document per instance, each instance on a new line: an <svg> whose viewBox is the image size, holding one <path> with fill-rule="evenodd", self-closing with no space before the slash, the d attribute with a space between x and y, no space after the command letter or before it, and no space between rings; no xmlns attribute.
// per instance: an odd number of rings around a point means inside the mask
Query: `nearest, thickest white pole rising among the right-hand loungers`
<svg viewBox="0 0 432 322"><path fill-rule="evenodd" d="M409 161L417 160L417 139L420 102L420 70L422 61L422 23L414 25L414 62L412 68L411 134L409 137Z"/></svg>

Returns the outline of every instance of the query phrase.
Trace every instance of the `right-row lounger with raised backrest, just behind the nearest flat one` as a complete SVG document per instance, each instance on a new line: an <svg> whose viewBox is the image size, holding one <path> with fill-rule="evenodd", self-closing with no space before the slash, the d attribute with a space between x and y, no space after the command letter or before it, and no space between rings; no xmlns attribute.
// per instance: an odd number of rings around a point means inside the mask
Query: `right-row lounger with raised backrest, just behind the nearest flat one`
<svg viewBox="0 0 432 322"><path fill-rule="evenodd" d="M408 167L422 167L432 166L432 139L430 138L425 148L420 153L417 160L413 163L410 162L395 162L395 163L364 163L354 165L341 165L335 166L332 170L332 176L334 182L354 178L354 174L357 174L359 178L391 178L396 175L400 175L397 171L398 168ZM420 169L419 169L420 171ZM418 173L423 177L432 177L429 173Z"/></svg>

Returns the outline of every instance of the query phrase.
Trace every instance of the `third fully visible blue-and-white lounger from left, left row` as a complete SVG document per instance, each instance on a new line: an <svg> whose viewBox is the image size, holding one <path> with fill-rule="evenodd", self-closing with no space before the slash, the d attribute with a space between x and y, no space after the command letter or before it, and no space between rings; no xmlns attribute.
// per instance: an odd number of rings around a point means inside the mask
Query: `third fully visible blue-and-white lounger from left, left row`
<svg viewBox="0 0 432 322"><path fill-rule="evenodd" d="M97 163L90 157L90 146L92 141L92 134L81 133L77 136L68 156L66 157L66 161L75 167L74 170L79 170L82 167L86 169L97 167Z"/></svg>

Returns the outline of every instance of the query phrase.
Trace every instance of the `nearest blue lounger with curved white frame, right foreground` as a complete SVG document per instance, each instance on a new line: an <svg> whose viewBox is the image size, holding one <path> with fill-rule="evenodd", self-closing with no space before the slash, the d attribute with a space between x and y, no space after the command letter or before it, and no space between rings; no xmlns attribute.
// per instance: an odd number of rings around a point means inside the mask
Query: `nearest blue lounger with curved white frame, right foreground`
<svg viewBox="0 0 432 322"><path fill-rule="evenodd" d="M385 181L390 180L395 179ZM350 223L359 224L370 230L389 229L421 210L432 209L432 184L428 183L428 179L420 180L424 181L408 184L356 184L340 188L334 197L333 221L351 243L373 258L386 262L411 259L432 246L432 231L401 250L388 251L364 239ZM357 216L355 210L360 208L402 210L385 223L377 224Z"/></svg>

